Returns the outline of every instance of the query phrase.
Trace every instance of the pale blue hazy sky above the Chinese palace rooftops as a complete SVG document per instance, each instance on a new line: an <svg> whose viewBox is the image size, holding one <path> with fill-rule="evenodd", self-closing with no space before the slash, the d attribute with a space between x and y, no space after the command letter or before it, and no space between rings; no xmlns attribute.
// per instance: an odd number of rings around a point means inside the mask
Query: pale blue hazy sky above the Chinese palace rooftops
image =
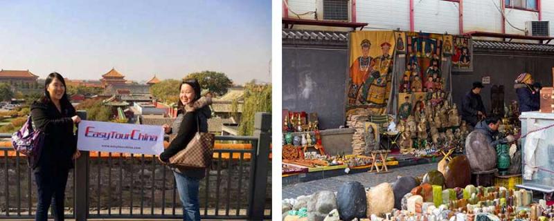
<svg viewBox="0 0 554 221"><path fill-rule="evenodd" d="M0 68L44 78L180 79L215 70L271 81L271 1L0 0Z"/></svg>

